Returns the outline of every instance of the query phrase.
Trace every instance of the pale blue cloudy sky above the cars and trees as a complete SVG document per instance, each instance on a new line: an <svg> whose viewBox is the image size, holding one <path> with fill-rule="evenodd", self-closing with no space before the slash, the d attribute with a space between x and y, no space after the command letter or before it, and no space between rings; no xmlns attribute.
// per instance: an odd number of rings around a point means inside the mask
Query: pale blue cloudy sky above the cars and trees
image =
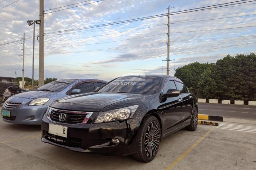
<svg viewBox="0 0 256 170"><path fill-rule="evenodd" d="M0 0L0 76L14 77L14 72L16 77L22 76L22 58L18 55L22 55L25 33L25 77L32 77L33 26L26 21L39 19L39 0L15 1ZM97 1L44 0L44 79L88 77L110 81L134 74L165 75L167 16L98 25L166 14L168 6L172 13L236 0ZM256 53L256 1L250 1L171 15L170 75L196 61L213 63L228 54ZM81 6L65 9L77 5ZM65 10L55 12L60 9ZM71 31L58 32L63 30ZM35 25L38 34L39 25ZM13 40L21 41L9 43ZM38 69L39 42L35 37L35 79Z"/></svg>

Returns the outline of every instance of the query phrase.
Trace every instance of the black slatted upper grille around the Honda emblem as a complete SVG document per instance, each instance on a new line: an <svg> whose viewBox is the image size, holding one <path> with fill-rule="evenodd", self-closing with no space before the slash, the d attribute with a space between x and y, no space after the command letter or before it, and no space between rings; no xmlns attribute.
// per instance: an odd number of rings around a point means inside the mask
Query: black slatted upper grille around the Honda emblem
<svg viewBox="0 0 256 170"><path fill-rule="evenodd" d="M66 115L66 118L64 121L59 120L60 114L64 113ZM66 111L66 110L52 110L50 118L55 122L61 122L61 123L83 123L84 119L86 118L86 113L73 113L72 111Z"/></svg>

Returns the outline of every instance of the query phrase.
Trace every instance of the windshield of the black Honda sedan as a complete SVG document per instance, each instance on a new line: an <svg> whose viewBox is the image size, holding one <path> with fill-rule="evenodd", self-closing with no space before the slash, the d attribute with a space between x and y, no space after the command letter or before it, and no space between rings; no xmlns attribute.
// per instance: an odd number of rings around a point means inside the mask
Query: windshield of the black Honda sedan
<svg viewBox="0 0 256 170"><path fill-rule="evenodd" d="M159 89L161 78L157 76L119 77L98 90L98 92L155 94Z"/></svg>

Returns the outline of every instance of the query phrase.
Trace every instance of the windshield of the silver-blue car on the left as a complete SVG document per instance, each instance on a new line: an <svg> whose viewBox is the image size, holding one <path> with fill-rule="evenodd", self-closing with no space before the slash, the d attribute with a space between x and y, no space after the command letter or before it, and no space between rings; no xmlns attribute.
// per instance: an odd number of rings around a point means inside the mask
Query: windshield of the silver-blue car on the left
<svg viewBox="0 0 256 170"><path fill-rule="evenodd" d="M61 79L61 80L57 80L57 81L52 81L50 83L47 83L46 85L43 85L42 87L40 87L36 90L60 92L75 81L77 81L77 80L76 79Z"/></svg>

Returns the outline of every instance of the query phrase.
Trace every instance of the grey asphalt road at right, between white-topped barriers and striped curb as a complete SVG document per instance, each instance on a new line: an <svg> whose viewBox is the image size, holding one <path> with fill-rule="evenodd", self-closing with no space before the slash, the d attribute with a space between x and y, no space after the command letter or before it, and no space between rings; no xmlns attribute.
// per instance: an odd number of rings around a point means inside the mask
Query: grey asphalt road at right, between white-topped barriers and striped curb
<svg viewBox="0 0 256 170"><path fill-rule="evenodd" d="M256 106L198 103L199 114L256 120Z"/></svg>

